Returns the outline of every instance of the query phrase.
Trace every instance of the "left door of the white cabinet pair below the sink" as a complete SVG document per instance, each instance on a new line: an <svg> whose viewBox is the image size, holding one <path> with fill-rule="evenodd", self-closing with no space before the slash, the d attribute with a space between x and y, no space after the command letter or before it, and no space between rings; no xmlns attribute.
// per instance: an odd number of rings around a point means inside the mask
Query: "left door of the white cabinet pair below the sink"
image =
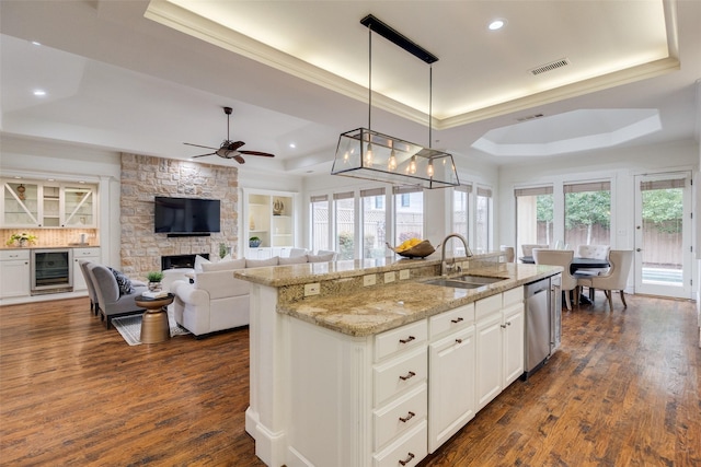
<svg viewBox="0 0 701 467"><path fill-rule="evenodd" d="M476 405L478 410L502 392L503 352L502 313L484 316L476 324Z"/></svg>

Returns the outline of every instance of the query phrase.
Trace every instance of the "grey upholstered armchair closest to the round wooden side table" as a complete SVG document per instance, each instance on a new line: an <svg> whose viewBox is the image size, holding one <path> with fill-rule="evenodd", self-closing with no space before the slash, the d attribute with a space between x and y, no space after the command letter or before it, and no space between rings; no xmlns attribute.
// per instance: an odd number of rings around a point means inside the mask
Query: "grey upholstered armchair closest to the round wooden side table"
<svg viewBox="0 0 701 467"><path fill-rule="evenodd" d="M130 281L128 288L126 282L119 287L114 272L102 265L91 262L88 265L92 283L97 296L97 311L100 319L105 322L105 328L110 329L112 319L117 316L135 315L143 313L143 308L138 307L135 297L148 290L146 285L134 285ZM124 279L125 281L128 279Z"/></svg>

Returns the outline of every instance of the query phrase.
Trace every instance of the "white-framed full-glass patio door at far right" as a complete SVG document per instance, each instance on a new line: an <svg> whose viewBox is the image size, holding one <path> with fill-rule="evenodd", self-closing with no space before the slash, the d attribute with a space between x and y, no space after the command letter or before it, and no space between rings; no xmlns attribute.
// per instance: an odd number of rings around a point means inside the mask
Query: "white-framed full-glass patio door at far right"
<svg viewBox="0 0 701 467"><path fill-rule="evenodd" d="M691 174L635 177L635 293L691 297Z"/></svg>

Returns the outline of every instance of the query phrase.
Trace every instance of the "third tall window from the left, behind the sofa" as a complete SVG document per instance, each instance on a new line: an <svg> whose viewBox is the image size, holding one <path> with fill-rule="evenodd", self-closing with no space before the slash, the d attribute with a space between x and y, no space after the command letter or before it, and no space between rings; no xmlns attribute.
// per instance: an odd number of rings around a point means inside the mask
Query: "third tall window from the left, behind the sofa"
<svg viewBox="0 0 701 467"><path fill-rule="evenodd" d="M363 209L363 254L365 258L383 258L387 252L387 209L384 188L360 190Z"/></svg>

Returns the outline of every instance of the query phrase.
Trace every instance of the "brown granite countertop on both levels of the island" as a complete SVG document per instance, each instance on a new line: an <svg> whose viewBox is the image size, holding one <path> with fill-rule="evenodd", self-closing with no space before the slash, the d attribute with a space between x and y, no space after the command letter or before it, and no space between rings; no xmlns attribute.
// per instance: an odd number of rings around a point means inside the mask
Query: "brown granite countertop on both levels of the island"
<svg viewBox="0 0 701 467"><path fill-rule="evenodd" d="M344 265L343 262L347 262ZM356 262L356 265L353 265ZM344 276L357 276L358 261L338 261L295 265L299 268L256 268L238 271L237 277L255 277L253 282L284 287L290 283L309 283ZM399 265L397 264L399 262ZM440 261L438 261L440 262ZM363 273L404 269L416 261L393 261L383 267L363 268ZM307 266L307 268L303 268ZM360 265L361 266L361 265ZM421 266L430 266L422 262ZM418 267L418 266L415 266ZM263 270L265 269L265 271ZM314 275L314 271L317 275ZM483 268L470 268L463 273L505 278L478 289L455 289L424 283L428 278L411 279L383 285L363 288L326 296L307 296L303 300L280 302L277 312L349 336L376 335L404 324L447 312L476 300L504 292L561 272L559 266L497 264ZM296 272L302 273L295 277ZM321 276L319 276L321 275ZM274 285L277 283L277 285Z"/></svg>

